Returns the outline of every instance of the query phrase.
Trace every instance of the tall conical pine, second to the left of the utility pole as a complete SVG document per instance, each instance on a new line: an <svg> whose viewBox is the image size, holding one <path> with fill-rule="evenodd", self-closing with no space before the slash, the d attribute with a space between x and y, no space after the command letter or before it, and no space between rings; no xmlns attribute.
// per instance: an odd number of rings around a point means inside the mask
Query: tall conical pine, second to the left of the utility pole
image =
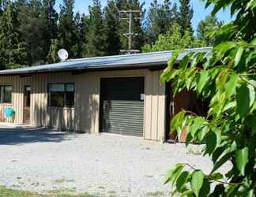
<svg viewBox="0 0 256 197"><path fill-rule="evenodd" d="M85 56L104 56L106 54L106 38L104 34L103 13L99 0L93 0L89 6L88 37Z"/></svg>

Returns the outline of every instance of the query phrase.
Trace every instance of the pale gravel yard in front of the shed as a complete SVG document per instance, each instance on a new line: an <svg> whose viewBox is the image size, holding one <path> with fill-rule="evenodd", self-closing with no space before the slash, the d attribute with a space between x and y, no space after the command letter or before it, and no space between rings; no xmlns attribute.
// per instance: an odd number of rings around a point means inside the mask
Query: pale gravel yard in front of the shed
<svg viewBox="0 0 256 197"><path fill-rule="evenodd" d="M198 147L135 137L0 129L0 185L99 196L168 196L164 175L177 162L209 171Z"/></svg>

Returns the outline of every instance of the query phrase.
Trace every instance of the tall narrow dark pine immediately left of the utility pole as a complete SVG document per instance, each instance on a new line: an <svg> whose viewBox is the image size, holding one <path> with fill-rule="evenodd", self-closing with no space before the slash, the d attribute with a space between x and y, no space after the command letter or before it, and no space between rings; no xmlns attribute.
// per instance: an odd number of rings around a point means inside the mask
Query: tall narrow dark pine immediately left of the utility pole
<svg viewBox="0 0 256 197"><path fill-rule="evenodd" d="M106 34L107 55L119 54L121 43L119 36L119 11L114 0L108 0L105 8L104 32Z"/></svg>

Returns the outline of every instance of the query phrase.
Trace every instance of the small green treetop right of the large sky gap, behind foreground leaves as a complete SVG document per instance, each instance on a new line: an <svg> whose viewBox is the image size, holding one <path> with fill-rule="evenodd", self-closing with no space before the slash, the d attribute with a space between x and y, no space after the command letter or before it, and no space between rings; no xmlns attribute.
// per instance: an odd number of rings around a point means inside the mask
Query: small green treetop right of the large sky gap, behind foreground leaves
<svg viewBox="0 0 256 197"><path fill-rule="evenodd" d="M203 40L208 46L213 46L216 37L209 35L209 33L213 32L216 28L220 28L222 24L223 22L218 21L215 16L205 17L205 20L201 20L198 24L198 39Z"/></svg>

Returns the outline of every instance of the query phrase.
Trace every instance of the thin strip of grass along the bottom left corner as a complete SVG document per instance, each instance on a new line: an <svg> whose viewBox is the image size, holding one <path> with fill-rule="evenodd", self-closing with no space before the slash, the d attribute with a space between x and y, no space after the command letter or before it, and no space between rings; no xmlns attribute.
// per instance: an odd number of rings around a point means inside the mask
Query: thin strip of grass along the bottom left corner
<svg viewBox="0 0 256 197"><path fill-rule="evenodd" d="M52 191L51 194L43 195L36 192L9 189L3 186L0 186L0 196L1 197L96 197L96 195L89 195L88 193L79 194L79 195L70 195L70 194L66 194L66 190L56 190L56 191Z"/></svg>

